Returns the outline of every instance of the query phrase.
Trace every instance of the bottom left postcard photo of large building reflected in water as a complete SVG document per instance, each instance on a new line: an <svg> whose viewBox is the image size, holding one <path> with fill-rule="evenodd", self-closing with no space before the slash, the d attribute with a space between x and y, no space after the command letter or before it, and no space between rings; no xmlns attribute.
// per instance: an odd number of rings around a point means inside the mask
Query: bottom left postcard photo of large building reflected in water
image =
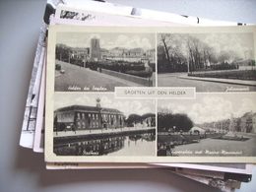
<svg viewBox="0 0 256 192"><path fill-rule="evenodd" d="M56 93L51 131L55 156L156 156L154 99L110 93Z"/></svg>

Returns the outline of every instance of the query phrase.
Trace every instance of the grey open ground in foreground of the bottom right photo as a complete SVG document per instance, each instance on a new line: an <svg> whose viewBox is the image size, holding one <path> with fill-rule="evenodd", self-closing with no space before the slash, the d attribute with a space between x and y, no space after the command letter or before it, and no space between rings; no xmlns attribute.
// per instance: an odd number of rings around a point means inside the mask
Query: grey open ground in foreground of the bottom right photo
<svg viewBox="0 0 256 192"><path fill-rule="evenodd" d="M230 141L221 139L203 139L199 143L175 146L173 154L179 152L193 153L190 155L178 155L178 156L212 156L212 157L255 157L256 156L256 134L241 134L243 137L250 138L247 141ZM202 151L202 154L195 154L195 152ZM217 154L217 152L220 152ZM223 152L223 153L222 153Z"/></svg>

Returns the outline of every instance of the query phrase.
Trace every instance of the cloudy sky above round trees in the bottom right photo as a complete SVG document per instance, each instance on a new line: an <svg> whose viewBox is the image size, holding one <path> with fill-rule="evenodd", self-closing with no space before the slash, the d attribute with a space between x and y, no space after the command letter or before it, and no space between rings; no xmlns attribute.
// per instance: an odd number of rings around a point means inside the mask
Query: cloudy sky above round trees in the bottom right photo
<svg viewBox="0 0 256 192"><path fill-rule="evenodd" d="M185 113L194 123L213 122L256 112L256 94L197 94L196 99L160 99L159 108Z"/></svg>

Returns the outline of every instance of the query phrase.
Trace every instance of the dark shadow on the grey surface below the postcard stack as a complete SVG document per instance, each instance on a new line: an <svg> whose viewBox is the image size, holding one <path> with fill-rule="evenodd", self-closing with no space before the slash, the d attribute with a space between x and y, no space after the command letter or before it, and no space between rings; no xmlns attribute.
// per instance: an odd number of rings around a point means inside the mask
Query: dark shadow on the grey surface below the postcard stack
<svg viewBox="0 0 256 192"><path fill-rule="evenodd" d="M66 169L47 170L42 154L32 153L29 149L18 149L14 171L26 171L37 177L37 187L95 184L102 183L115 185L121 183L136 185L144 183L149 185L163 185L169 188L178 188L180 191L198 191L199 185L203 191L216 191L202 183L197 183L188 178L170 172L170 168L155 169ZM186 185L184 185L186 183ZM187 186L189 185L189 187Z"/></svg>

